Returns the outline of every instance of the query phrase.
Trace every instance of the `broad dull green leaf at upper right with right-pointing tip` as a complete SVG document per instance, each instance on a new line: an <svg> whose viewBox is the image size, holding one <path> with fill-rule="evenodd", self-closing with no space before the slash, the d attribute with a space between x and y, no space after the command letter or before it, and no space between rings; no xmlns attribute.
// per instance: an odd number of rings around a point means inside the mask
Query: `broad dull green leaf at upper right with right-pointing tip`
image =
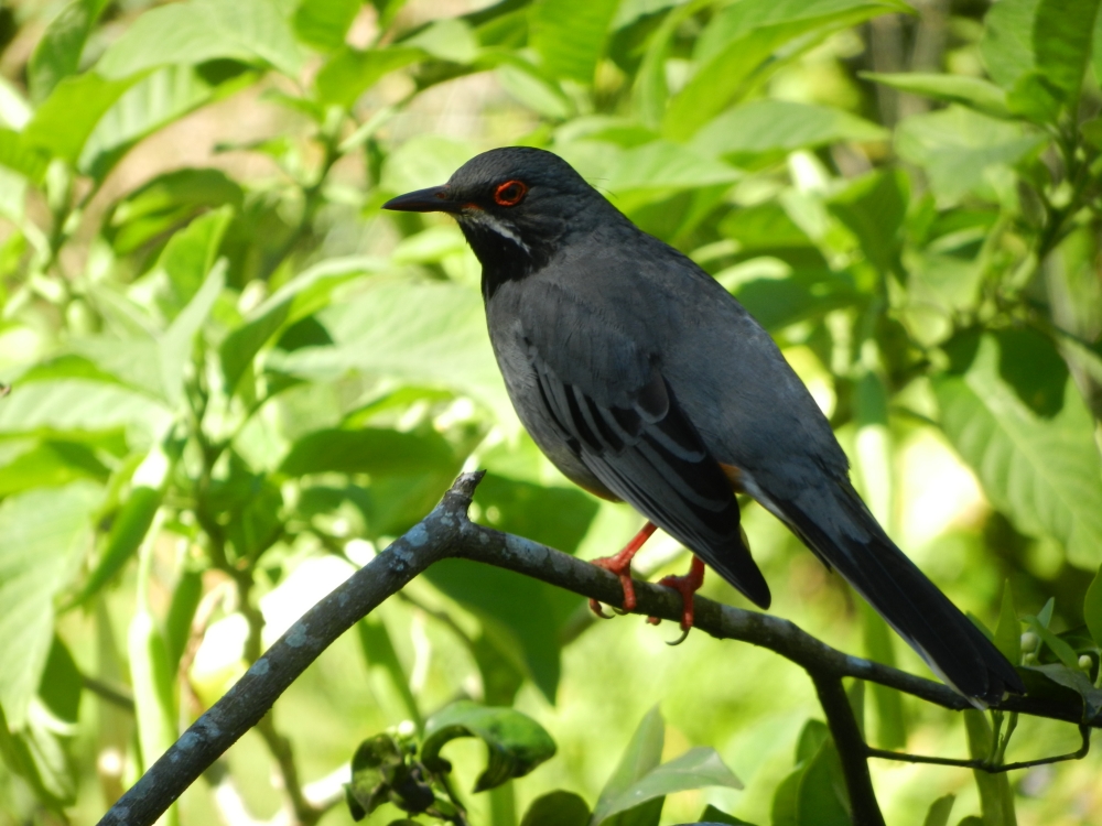
<svg viewBox="0 0 1102 826"><path fill-rule="evenodd" d="M915 115L896 129L896 151L923 169L938 200L944 203L985 186L990 189L988 169L1013 165L1046 140L961 106Z"/></svg>

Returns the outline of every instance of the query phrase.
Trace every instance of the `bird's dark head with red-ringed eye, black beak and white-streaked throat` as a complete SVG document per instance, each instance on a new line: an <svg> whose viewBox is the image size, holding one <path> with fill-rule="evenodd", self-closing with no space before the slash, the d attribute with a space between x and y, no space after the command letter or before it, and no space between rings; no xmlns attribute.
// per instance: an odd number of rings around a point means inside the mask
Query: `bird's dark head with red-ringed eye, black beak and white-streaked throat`
<svg viewBox="0 0 1102 826"><path fill-rule="evenodd" d="M602 207L609 205L569 163L528 146L484 152L456 170L446 184L382 205L453 215L495 283L541 268L583 214Z"/></svg>

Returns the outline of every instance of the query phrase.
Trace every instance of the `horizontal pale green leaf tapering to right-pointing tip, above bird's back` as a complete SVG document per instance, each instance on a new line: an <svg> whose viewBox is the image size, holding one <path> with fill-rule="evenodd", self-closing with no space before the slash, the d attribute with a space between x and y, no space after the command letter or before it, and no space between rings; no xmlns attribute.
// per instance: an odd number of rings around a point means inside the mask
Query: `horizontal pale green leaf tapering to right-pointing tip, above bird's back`
<svg viewBox="0 0 1102 826"><path fill-rule="evenodd" d="M841 109L789 100L752 100L710 121L689 145L706 156L757 155L887 137L882 127Z"/></svg>

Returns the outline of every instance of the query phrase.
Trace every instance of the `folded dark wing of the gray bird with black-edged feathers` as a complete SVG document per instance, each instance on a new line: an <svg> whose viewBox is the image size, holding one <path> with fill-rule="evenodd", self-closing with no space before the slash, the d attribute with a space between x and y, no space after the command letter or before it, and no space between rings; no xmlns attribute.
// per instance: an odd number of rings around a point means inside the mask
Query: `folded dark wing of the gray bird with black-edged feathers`
<svg viewBox="0 0 1102 826"><path fill-rule="evenodd" d="M549 358L537 344L526 344L539 391L529 403L570 452L609 490L767 608L769 587L743 543L731 482L659 370L651 368L629 387L624 379L633 373L633 360L626 361L598 394L576 379L571 383L560 377L552 360L569 359L569 348ZM571 360L571 372L580 372L576 360ZM602 379L593 376L585 384L601 385Z"/></svg>

